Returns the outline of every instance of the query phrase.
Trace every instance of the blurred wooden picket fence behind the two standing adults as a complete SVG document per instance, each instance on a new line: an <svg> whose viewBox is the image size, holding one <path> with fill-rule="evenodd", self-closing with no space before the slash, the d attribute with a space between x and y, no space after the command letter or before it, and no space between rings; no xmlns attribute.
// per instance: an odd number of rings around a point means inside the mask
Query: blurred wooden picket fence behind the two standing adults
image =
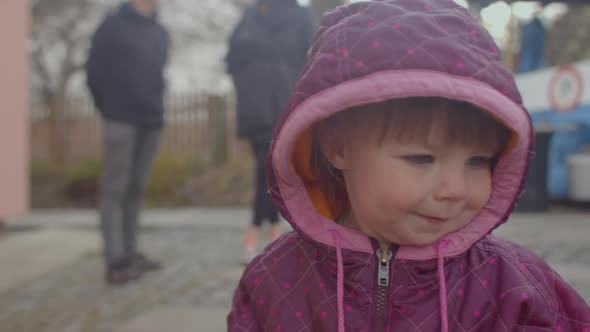
<svg viewBox="0 0 590 332"><path fill-rule="evenodd" d="M88 98L63 103L63 121L56 140L54 123L44 106L31 107L31 157L52 161L63 151L65 166L96 160L102 154L101 119ZM223 163L241 144L235 137L235 103L231 96L173 95L166 99L166 126L160 153L198 156ZM56 147L55 144L63 146ZM57 148L57 149L56 149Z"/></svg>

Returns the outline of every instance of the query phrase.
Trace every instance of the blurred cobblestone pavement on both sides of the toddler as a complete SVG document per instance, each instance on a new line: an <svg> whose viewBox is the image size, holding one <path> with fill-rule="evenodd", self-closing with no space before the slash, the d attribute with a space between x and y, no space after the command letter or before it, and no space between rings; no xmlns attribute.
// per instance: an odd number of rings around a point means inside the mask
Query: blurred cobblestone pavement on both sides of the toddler
<svg viewBox="0 0 590 332"><path fill-rule="evenodd" d="M173 213L150 214L141 238L147 253L165 263L164 270L107 287L99 253L83 253L69 266L0 294L0 331L106 332L159 306L229 308L242 269L240 237L248 210ZM97 231L88 215L80 217L85 222L71 215L55 218L60 222L52 221L52 227ZM201 221L192 223L195 218ZM512 219L498 233L548 259L590 300L590 213Z"/></svg>

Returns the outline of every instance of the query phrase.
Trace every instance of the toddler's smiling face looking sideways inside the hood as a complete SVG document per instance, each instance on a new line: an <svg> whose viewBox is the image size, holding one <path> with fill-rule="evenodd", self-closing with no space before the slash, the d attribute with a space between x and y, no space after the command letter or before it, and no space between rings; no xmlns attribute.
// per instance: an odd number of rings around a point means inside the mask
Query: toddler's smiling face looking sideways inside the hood
<svg viewBox="0 0 590 332"><path fill-rule="evenodd" d="M350 198L346 224L381 242L424 246L469 223L490 197L496 147L440 143L443 134L381 144L354 135L332 159Z"/></svg>

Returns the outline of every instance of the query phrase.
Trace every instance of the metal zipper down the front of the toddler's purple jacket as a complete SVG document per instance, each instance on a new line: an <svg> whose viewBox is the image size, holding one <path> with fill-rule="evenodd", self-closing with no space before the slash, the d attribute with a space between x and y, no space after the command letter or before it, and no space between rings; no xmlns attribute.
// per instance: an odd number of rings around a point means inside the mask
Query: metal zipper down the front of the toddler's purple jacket
<svg viewBox="0 0 590 332"><path fill-rule="evenodd" d="M375 331L385 331L389 303L390 250L377 250L377 294L375 299Z"/></svg>

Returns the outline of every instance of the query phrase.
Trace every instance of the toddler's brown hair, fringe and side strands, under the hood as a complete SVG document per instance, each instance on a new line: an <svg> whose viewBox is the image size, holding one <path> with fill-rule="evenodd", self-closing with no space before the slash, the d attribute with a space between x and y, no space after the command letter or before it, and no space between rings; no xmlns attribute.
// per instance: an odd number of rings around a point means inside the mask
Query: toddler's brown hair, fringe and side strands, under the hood
<svg viewBox="0 0 590 332"><path fill-rule="evenodd" d="M386 138L431 143L434 133L439 133L439 130L443 134L442 143L493 147L497 151L496 159L507 149L511 138L511 130L507 126L467 102L440 97L395 99L353 107L315 124L312 129L311 168L319 178L323 191L330 199L335 199L342 194L339 193L341 190L345 190L343 178L322 153L321 137L354 137L361 133L374 136L377 144Z"/></svg>

